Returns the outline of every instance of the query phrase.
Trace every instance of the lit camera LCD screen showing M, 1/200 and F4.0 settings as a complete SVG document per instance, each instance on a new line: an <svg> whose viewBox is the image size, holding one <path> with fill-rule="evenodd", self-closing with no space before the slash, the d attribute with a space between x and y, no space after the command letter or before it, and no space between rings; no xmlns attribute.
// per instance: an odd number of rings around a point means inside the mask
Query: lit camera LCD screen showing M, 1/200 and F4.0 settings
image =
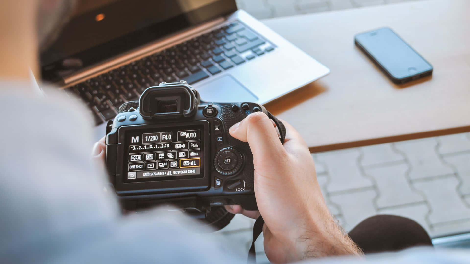
<svg viewBox="0 0 470 264"><path fill-rule="evenodd" d="M204 177L204 125L125 132L124 182Z"/></svg>

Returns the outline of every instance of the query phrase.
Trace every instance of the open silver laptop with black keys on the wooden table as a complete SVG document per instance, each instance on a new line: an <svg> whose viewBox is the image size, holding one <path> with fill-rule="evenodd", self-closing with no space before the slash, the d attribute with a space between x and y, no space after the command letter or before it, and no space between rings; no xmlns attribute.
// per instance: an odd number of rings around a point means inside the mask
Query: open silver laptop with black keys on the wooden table
<svg viewBox="0 0 470 264"><path fill-rule="evenodd" d="M86 103L97 138L122 103L161 82L264 104L329 73L235 0L80 0L40 61L44 80Z"/></svg>

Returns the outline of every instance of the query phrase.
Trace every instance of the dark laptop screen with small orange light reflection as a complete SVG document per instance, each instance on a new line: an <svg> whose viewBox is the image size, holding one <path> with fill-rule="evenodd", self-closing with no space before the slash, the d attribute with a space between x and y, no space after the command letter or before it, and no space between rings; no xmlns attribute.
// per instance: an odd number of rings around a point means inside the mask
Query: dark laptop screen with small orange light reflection
<svg viewBox="0 0 470 264"><path fill-rule="evenodd" d="M235 0L79 0L58 38L41 53L42 77L60 81L94 63L235 10Z"/></svg>

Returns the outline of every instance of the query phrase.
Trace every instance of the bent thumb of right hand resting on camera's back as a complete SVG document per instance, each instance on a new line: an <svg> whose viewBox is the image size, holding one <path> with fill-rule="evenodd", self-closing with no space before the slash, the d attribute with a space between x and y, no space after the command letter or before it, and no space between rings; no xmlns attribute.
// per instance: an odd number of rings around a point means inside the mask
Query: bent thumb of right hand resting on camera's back
<svg viewBox="0 0 470 264"><path fill-rule="evenodd" d="M229 133L237 140L248 142L256 161L265 161L273 157L286 155L284 147L269 117L263 112L256 112L234 124Z"/></svg>

